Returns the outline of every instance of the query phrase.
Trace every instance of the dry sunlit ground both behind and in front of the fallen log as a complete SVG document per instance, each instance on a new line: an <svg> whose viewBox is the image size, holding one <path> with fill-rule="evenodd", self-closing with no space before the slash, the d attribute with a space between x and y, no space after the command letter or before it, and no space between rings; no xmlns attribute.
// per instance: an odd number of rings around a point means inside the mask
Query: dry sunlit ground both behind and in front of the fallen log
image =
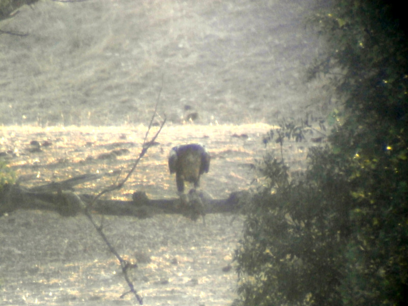
<svg viewBox="0 0 408 306"><path fill-rule="evenodd" d="M107 197L130 199L135 190L151 198L176 197L175 178L167 168L172 146L200 142L211 154L210 172L202 176L201 188L214 198L226 198L232 191L257 186L253 165L276 143L262 142L273 126L184 125L166 126L158 144L152 146L124 189ZM153 127L151 134L157 131ZM22 186L39 186L66 180L84 173L105 173L122 169L121 177L136 160L147 127L3 127L1 149L20 177ZM149 136L150 137L150 136ZM33 151L31 141L40 146ZM294 170L304 167L310 142L284 143L285 162ZM123 155L98 158L113 150ZM117 177L106 177L75 188L75 192L94 194ZM236 296L234 250L242 232L242 217L210 214L207 226L179 215L104 218L104 229L120 254L139 260L133 279L145 304L228 304ZM118 263L84 216L63 218L53 212L15 211L0 217L0 290L9 304L133 304L126 295L127 285ZM181 302L182 301L182 302Z"/></svg>

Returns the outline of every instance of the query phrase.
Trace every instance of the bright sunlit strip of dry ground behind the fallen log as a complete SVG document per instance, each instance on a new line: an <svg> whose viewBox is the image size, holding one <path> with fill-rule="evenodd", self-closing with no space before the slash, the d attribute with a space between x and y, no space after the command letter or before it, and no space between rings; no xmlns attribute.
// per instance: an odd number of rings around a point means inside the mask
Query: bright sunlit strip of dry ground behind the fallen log
<svg viewBox="0 0 408 306"><path fill-rule="evenodd" d="M275 142L267 148L262 142L273 126L244 125L177 125L166 126L150 147L123 190L108 196L127 198L134 191L145 191L151 198L167 198L176 194L175 177L170 175L167 157L170 149L181 143L199 142L211 154L208 174L202 175L201 188L214 198L227 197L231 192L249 189L257 173L253 165L266 152L281 158ZM148 140L158 127L152 127ZM105 179L78 186L81 193L96 193L113 184L121 171L123 178L140 154L147 131L144 125L121 127L3 127L0 129L0 151L8 152L10 167L20 177L21 185L31 187L58 182L85 173L107 173ZM32 141L41 145L38 149ZM284 143L285 162L292 170L302 167L309 143ZM116 172L115 172L116 173Z"/></svg>

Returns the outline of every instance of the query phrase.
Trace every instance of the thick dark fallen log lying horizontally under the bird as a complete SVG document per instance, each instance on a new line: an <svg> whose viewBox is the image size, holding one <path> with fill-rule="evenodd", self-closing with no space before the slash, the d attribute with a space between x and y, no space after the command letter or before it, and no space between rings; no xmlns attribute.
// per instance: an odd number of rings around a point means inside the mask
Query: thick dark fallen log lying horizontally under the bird
<svg viewBox="0 0 408 306"><path fill-rule="evenodd" d="M37 190L55 190L54 188ZM251 195L248 191L233 192L226 199L212 199L203 192L190 192L188 203L199 198L201 214L239 213L249 205ZM18 184L5 184L0 192L0 214L18 209L38 209L58 212L62 216L75 216L85 208L97 214L116 216L152 217L156 214L182 214L197 219L199 214L192 214L193 205L182 205L180 198L149 199L144 192L135 192L132 200L97 199L93 196L77 195L72 191L32 191ZM92 206L90 206L92 203ZM202 207L201 207L202 205Z"/></svg>

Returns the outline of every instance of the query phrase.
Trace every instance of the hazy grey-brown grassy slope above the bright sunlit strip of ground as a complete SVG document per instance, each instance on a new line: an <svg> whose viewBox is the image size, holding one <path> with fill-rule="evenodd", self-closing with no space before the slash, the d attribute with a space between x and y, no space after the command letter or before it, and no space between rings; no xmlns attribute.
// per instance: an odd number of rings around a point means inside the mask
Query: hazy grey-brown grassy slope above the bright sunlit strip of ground
<svg viewBox="0 0 408 306"><path fill-rule="evenodd" d="M328 100L312 1L39 1L0 29L0 123L274 123ZM310 107L309 107L310 108Z"/></svg>

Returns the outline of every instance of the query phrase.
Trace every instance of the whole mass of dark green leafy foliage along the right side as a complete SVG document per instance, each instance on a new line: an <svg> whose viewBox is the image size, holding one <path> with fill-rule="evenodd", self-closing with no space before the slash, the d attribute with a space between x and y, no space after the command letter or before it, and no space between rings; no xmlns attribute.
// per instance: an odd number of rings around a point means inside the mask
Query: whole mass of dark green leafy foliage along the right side
<svg viewBox="0 0 408 306"><path fill-rule="evenodd" d="M328 119L330 145L310 151L303 180L290 182L282 163L265 159L270 184L236 253L237 304L408 299L408 42L392 5L333 3L311 19L327 49L310 76L330 78L344 105Z"/></svg>

